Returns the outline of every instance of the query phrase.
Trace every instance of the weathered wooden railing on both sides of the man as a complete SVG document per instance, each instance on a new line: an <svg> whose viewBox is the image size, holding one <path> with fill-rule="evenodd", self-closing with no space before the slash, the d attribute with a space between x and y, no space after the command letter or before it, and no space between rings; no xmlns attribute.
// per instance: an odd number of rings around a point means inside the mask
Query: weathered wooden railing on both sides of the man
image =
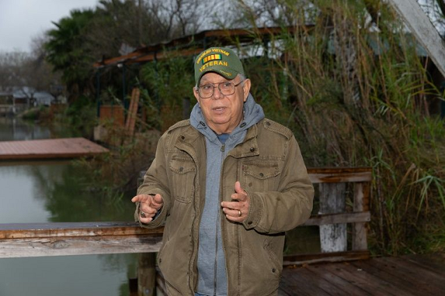
<svg viewBox="0 0 445 296"><path fill-rule="evenodd" d="M311 181L319 184L323 213L313 215L304 225L321 227L321 252L285 256L284 265L367 258L371 169L309 168L308 172ZM354 184L353 211L349 213L346 183ZM348 223L352 224L350 250L346 249ZM162 233L162 227L143 229L133 222L0 224L0 258L154 253L161 247Z"/></svg>

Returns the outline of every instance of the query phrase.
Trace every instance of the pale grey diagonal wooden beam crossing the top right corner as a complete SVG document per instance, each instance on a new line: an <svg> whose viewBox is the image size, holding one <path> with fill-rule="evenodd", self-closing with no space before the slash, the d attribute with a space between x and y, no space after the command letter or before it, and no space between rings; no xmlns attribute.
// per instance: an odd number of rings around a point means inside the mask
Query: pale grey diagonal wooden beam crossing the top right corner
<svg viewBox="0 0 445 296"><path fill-rule="evenodd" d="M445 43L416 0L389 0L445 77Z"/></svg>

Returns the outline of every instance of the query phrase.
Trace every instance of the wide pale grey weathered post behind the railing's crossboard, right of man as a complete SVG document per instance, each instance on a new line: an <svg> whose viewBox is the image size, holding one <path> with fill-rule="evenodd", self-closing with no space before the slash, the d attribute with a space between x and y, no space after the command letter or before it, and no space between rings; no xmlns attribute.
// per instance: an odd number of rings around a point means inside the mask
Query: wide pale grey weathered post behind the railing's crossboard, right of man
<svg viewBox="0 0 445 296"><path fill-rule="evenodd" d="M320 183L319 214L343 213L346 211L346 183ZM321 252L346 252L348 241L346 224L320 225Z"/></svg>

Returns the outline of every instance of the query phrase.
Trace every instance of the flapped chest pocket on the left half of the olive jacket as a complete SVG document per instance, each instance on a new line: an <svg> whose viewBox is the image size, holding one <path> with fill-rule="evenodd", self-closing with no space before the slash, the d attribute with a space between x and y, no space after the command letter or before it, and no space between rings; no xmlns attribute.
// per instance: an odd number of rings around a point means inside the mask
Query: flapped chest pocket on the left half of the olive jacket
<svg viewBox="0 0 445 296"><path fill-rule="evenodd" d="M196 167L192 159L172 158L172 195L179 202L191 202L195 193Z"/></svg>

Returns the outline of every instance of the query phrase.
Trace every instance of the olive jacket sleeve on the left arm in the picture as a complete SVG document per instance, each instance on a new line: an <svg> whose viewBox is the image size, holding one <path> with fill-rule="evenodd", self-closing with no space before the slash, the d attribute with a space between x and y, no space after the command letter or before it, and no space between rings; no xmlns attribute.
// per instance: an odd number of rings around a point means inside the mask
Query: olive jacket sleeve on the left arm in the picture
<svg viewBox="0 0 445 296"><path fill-rule="evenodd" d="M158 213L157 217L149 223L143 223L139 220L139 203L136 203L136 211L134 213L134 219L139 222L141 227L146 228L156 228L161 226L165 221L170 211L170 190L168 189L168 163L165 151L167 151L168 134L165 133L161 139L159 139L158 146L156 148L156 156L152 165L145 173L144 181L138 188L138 195L156 195L160 194L163 198L163 206L161 212Z"/></svg>

